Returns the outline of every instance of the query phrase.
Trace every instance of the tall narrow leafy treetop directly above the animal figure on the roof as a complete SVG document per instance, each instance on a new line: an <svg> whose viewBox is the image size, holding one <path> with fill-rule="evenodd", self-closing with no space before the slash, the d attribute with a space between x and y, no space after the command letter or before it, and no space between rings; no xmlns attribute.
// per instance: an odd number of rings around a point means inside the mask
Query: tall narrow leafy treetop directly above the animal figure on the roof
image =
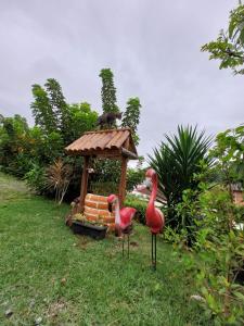
<svg viewBox="0 0 244 326"><path fill-rule="evenodd" d="M103 68L99 75L102 78L102 104L103 112L119 112L116 104L116 88L114 86L114 74L110 68Z"/></svg>

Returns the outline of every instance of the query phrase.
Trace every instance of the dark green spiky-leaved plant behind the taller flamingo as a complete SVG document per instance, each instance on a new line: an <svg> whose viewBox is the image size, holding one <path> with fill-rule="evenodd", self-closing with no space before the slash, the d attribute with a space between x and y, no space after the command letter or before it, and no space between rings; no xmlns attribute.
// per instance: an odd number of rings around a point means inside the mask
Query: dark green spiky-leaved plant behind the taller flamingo
<svg viewBox="0 0 244 326"><path fill-rule="evenodd" d="M168 223L176 228L182 227L176 205L181 202L183 190L196 189L198 181L193 176L201 172L202 161L210 165L207 151L211 137L206 137L204 130L197 133L196 126L178 126L177 134L165 138L149 155L149 163L157 172L158 188L167 199Z"/></svg>

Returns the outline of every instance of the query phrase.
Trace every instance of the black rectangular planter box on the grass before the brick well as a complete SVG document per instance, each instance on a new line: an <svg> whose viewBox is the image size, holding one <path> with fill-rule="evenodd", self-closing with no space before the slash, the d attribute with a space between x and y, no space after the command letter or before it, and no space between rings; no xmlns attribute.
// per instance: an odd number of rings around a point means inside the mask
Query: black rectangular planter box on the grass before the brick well
<svg viewBox="0 0 244 326"><path fill-rule="evenodd" d="M89 236L95 240L102 240L106 236L107 226L93 225L88 222L74 221L72 224L74 234Z"/></svg>

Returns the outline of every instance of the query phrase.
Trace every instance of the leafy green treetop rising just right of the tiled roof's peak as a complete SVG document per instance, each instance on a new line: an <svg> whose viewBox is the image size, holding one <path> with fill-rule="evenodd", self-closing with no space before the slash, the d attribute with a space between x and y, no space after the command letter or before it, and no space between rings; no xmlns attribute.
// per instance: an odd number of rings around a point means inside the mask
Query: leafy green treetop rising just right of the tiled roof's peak
<svg viewBox="0 0 244 326"><path fill-rule="evenodd" d="M141 103L139 98L130 98L127 101L127 108L123 114L123 127L129 127L132 130L132 137L136 145L139 143L139 136L137 134L138 124L140 122L140 108Z"/></svg>

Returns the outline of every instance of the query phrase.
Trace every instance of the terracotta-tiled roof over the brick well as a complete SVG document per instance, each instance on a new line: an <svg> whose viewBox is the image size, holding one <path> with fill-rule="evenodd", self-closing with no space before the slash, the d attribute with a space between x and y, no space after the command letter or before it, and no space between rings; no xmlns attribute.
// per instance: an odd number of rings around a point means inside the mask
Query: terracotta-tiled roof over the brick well
<svg viewBox="0 0 244 326"><path fill-rule="evenodd" d="M138 159L130 128L93 130L65 148L67 154Z"/></svg>

